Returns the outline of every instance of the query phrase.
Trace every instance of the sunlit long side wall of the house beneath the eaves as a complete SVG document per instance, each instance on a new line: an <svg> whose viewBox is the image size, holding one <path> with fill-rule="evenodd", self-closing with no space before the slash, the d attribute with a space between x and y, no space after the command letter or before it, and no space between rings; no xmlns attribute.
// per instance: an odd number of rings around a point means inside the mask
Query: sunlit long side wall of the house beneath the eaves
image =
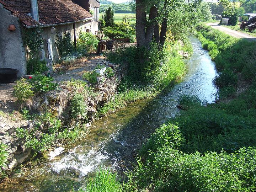
<svg viewBox="0 0 256 192"><path fill-rule="evenodd" d="M58 25L53 27L42 28L42 32L43 32L42 37L44 39L44 55L42 59L44 57L50 58L48 55L46 44L47 44L47 40L51 39L53 61L56 62L59 58L59 53L55 45L55 43L57 42L57 37L62 36L64 33L70 33L71 38L74 41L74 29L73 29L73 23L69 23L66 25ZM95 22L94 20L76 22L75 27L76 27L76 30L75 30L76 39L78 39L80 31L81 32L89 31L92 34L95 34L95 31L98 31L98 22Z"/></svg>

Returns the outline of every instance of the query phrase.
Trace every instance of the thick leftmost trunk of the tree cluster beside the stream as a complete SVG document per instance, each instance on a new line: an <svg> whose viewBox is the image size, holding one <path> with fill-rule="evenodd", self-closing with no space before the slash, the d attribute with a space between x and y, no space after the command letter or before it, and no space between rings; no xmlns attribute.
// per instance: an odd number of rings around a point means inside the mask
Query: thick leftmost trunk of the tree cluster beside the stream
<svg viewBox="0 0 256 192"><path fill-rule="evenodd" d="M136 38L137 47L145 46L146 10L143 0L136 0Z"/></svg>

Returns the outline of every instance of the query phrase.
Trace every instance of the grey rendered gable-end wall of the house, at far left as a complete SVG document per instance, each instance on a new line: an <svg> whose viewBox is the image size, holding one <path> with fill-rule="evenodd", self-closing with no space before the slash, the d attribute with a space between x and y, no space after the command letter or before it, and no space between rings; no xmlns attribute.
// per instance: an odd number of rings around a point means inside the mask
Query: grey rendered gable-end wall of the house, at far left
<svg viewBox="0 0 256 192"><path fill-rule="evenodd" d="M7 30L12 24L16 27L13 32ZM21 31L18 18L11 15L11 12L0 4L0 68L18 69L19 77L26 74L25 48Z"/></svg>

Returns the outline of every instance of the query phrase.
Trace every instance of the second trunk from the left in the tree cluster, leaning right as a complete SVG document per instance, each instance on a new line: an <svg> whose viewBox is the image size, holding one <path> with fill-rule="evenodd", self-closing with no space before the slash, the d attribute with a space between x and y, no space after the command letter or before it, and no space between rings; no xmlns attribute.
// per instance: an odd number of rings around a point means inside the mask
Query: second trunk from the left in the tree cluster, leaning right
<svg viewBox="0 0 256 192"><path fill-rule="evenodd" d="M149 11L149 24L146 28L145 46L150 48L150 43L152 42L154 28L155 28L155 18L157 16L158 8L156 6L151 6Z"/></svg>

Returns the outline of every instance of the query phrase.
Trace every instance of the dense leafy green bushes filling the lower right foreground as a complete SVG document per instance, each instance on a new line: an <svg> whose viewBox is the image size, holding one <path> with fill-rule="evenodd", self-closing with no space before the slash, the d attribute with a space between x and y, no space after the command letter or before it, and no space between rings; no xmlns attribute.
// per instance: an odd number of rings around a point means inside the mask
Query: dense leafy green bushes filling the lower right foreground
<svg viewBox="0 0 256 192"><path fill-rule="evenodd" d="M200 106L198 98L156 129L127 176L128 191L255 191L256 88L230 103Z"/></svg>

